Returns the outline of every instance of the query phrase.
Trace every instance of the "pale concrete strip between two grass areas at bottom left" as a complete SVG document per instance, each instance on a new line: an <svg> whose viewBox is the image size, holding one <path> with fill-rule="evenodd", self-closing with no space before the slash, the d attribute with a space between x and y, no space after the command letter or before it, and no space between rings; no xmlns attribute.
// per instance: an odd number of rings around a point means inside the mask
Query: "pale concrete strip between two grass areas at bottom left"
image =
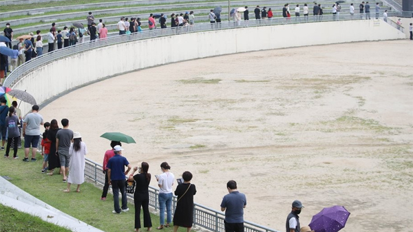
<svg viewBox="0 0 413 232"><path fill-rule="evenodd" d="M103 232L100 229L81 222L72 216L47 205L45 202L24 192L19 187L0 176L0 204L19 211L39 216L42 220L65 227L71 231Z"/></svg>

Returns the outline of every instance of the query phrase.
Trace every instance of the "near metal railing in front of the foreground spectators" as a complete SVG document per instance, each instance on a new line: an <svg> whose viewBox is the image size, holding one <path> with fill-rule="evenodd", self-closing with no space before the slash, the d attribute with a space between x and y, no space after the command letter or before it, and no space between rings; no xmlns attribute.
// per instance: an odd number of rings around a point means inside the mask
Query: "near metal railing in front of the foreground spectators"
<svg viewBox="0 0 413 232"><path fill-rule="evenodd" d="M91 179L95 183L101 185L105 184L105 174L103 174L102 165L90 160L85 159L85 177ZM129 198L134 198L132 194L127 194ZM158 204L159 189L149 186L149 206L154 209L159 209ZM176 196L173 196L172 200L172 214L176 209ZM197 203L193 204L193 224L210 231L222 232L225 231L224 213L205 207ZM279 232L275 229L261 226L253 222L244 221L244 232Z"/></svg>

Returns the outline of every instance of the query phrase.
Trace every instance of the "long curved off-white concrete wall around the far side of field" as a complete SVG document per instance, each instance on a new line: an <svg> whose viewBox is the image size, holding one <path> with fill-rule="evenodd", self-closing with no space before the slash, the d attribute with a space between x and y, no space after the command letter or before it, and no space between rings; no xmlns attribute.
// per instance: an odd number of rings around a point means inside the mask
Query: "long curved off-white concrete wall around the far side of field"
<svg viewBox="0 0 413 232"><path fill-rule="evenodd" d="M41 104L89 82L171 62L246 51L399 38L405 38L405 34L388 23L373 20L244 27L166 36L112 45L56 60L32 71L10 87L27 90ZM86 65L94 68L81 68ZM23 104L21 109L27 113L30 107Z"/></svg>

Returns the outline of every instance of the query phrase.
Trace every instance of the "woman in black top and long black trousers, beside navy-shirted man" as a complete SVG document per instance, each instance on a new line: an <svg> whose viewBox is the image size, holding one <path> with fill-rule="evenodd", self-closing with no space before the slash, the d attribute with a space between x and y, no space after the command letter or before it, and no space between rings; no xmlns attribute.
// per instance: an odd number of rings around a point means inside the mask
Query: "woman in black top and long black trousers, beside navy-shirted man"
<svg viewBox="0 0 413 232"><path fill-rule="evenodd" d="M139 170L139 173L134 176L134 173ZM135 203L135 231L139 232L140 225L140 207L143 209L143 227L147 227L147 231L152 230L151 214L149 213L149 183L151 182L151 174L148 173L149 164L142 162L140 168L134 167L134 172L129 176L129 181L136 181L134 192Z"/></svg>

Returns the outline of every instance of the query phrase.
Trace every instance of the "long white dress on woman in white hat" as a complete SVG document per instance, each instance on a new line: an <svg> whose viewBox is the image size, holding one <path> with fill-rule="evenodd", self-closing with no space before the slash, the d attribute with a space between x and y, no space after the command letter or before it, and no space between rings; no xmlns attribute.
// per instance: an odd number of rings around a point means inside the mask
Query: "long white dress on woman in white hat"
<svg viewBox="0 0 413 232"><path fill-rule="evenodd" d="M72 158L70 159L69 177L67 177L67 182L74 185L80 185L85 182L86 144L81 142L81 150L78 150L77 152L73 148L73 143L70 144L69 154Z"/></svg>

